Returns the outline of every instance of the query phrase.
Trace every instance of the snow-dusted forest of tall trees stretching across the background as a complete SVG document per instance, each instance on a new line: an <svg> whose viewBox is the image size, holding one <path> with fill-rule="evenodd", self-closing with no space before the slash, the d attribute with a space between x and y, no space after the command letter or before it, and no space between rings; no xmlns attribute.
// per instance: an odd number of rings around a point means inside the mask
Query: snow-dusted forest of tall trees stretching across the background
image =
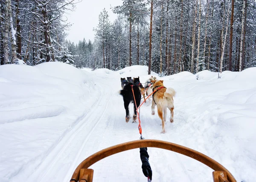
<svg viewBox="0 0 256 182"><path fill-rule="evenodd" d="M94 40L66 40L73 0L2 0L1 65L61 61L119 70L147 65L148 74L242 71L256 66L255 0L122 0L99 14Z"/></svg>

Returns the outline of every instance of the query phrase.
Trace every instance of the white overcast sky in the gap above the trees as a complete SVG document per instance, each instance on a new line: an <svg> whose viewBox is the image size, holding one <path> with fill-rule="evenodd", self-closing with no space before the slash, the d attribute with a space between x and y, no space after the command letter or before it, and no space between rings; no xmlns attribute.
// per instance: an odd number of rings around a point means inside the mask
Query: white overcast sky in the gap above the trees
<svg viewBox="0 0 256 182"><path fill-rule="evenodd" d="M93 28L98 25L99 13L105 8L108 11L109 20L113 22L117 15L113 14L110 7L122 5L122 0L82 0L76 4L76 10L67 15L68 21L72 23L67 31L67 40L75 44L79 40L94 40Z"/></svg>

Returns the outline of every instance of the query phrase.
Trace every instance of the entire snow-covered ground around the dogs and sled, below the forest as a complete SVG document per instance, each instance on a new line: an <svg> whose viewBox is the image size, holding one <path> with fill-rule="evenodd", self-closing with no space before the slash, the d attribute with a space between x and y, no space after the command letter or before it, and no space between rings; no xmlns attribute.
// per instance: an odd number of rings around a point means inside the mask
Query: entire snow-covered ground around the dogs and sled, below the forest
<svg viewBox="0 0 256 182"><path fill-rule="evenodd" d="M104 148L137 140L125 122L120 77L144 84L146 66L79 70L64 63L0 66L0 182L68 182L79 163ZM256 179L256 68L168 77L176 90L174 123L140 110L143 137L195 149L224 165L238 182ZM133 106L130 105L130 108ZM132 109L130 109L132 111ZM131 113L132 114L132 113ZM169 117L170 114L167 115ZM212 182L212 170L187 156L148 148L155 182ZM94 182L147 181L139 149L91 166Z"/></svg>

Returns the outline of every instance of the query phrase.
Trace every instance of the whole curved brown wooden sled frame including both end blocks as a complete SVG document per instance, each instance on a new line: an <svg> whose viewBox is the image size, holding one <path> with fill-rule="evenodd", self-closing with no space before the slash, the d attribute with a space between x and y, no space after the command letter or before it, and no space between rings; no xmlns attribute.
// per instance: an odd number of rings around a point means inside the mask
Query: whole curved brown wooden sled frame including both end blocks
<svg viewBox="0 0 256 182"><path fill-rule="evenodd" d="M112 147L105 148L102 151L99 151L89 156L87 159L81 162L79 166L76 168L70 182L92 182L93 170L88 169L91 165L113 154L142 147L163 148L169 151L174 151L179 154L183 154L185 156L189 156L195 160L198 160L199 162L204 163L205 165L214 170L212 172L214 182L236 182L236 179L233 177L233 175L226 168L224 168L224 166L222 166L212 158L198 151L186 148L182 145L177 145L175 143L154 139L141 139L131 142L125 142L119 145L114 145Z"/></svg>

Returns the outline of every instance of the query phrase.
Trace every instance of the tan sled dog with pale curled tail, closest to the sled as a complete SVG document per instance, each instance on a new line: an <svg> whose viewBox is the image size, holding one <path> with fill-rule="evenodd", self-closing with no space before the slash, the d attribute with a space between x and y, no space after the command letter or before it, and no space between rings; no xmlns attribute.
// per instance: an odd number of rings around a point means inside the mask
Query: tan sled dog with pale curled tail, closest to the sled
<svg viewBox="0 0 256 182"><path fill-rule="evenodd" d="M167 108L171 111L170 122L173 122L173 97L175 96L175 90L173 88L166 88L163 86L163 80L152 80L153 83L153 91L157 90L153 94L153 101L151 106L151 114L154 115L154 108L157 105L157 113L162 121L162 131L161 133L165 133L165 122L166 122L166 112Z"/></svg>

